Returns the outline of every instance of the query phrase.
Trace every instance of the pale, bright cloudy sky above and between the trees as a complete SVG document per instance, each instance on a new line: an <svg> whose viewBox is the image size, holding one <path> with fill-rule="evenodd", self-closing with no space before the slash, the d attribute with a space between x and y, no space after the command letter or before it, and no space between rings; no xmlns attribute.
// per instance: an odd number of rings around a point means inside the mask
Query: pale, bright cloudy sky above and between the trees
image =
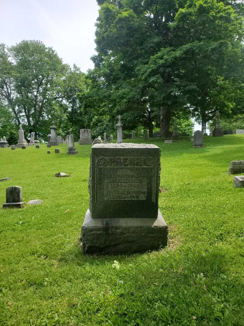
<svg viewBox="0 0 244 326"><path fill-rule="evenodd" d="M96 0L0 0L0 43L40 40L71 67L93 68ZM195 130L201 126L195 123Z"/></svg>

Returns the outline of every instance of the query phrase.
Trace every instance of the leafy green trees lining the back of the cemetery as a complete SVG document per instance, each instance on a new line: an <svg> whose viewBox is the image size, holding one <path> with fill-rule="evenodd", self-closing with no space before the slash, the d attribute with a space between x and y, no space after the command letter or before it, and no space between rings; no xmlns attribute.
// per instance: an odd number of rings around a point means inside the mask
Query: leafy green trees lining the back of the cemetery
<svg viewBox="0 0 244 326"><path fill-rule="evenodd" d="M80 128L93 136L160 131L191 134L194 118L229 126L244 120L244 6L216 0L97 0L94 69L65 65L42 42L0 44L0 136L46 140Z"/></svg>

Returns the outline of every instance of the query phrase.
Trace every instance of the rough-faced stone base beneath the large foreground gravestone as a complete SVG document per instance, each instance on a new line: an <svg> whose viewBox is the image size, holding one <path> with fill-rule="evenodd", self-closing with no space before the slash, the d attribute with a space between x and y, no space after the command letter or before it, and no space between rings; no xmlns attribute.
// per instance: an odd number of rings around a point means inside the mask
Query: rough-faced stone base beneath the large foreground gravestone
<svg viewBox="0 0 244 326"><path fill-rule="evenodd" d="M168 226L157 218L91 218L87 210L81 228L84 254L145 252L167 245Z"/></svg>

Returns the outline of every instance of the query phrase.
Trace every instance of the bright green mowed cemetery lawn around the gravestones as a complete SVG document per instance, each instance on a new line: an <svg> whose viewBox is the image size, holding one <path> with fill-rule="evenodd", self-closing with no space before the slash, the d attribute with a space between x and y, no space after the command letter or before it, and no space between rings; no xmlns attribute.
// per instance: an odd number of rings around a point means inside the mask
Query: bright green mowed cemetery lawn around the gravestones
<svg viewBox="0 0 244 326"><path fill-rule="evenodd" d="M244 136L204 137L203 148L144 142L161 148L169 245L114 256L80 251L90 145L74 156L66 145L0 149L0 178L11 178L0 204L10 185L44 200L0 209L0 325L244 325L244 189L226 173L244 159Z"/></svg>

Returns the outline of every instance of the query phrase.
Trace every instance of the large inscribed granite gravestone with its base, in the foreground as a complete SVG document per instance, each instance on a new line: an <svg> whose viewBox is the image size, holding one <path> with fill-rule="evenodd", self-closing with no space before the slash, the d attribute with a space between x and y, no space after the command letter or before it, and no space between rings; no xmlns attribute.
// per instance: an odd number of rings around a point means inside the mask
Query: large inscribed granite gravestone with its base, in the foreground
<svg viewBox="0 0 244 326"><path fill-rule="evenodd" d="M158 210L159 182L156 145L93 145L90 205L81 234L84 254L143 252L167 245L168 227Z"/></svg>

